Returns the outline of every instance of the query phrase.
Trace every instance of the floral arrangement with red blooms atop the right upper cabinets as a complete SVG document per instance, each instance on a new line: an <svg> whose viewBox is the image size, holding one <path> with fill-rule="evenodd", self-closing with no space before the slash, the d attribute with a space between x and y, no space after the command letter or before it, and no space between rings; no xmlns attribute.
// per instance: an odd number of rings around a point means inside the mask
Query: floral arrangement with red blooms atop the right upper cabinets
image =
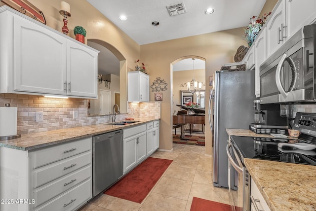
<svg viewBox="0 0 316 211"><path fill-rule="evenodd" d="M265 13L263 16L261 16L261 18L258 16L253 16L250 18L250 23L248 24L244 34L249 47L254 42L255 38L259 34L270 15L271 12Z"/></svg>

